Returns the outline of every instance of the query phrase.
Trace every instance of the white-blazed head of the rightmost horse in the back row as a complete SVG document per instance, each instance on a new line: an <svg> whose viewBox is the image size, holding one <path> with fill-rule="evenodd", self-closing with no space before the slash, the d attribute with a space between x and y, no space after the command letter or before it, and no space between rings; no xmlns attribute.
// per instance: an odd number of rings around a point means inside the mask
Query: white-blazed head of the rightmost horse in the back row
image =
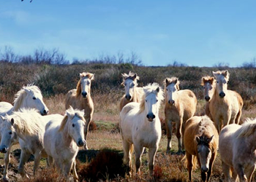
<svg viewBox="0 0 256 182"><path fill-rule="evenodd" d="M214 77L216 79L217 82L217 92L219 93L219 97L220 98L224 98L225 97L225 92L227 92L227 82L229 79L230 74L228 73L227 70L225 71L216 71L216 72L212 72L214 74Z"/></svg>

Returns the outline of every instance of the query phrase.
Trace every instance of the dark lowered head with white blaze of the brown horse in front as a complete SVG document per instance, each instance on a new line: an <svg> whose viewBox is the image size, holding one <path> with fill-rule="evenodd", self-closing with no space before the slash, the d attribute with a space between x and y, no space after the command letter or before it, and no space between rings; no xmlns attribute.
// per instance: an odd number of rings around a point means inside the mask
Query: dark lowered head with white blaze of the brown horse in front
<svg viewBox="0 0 256 182"><path fill-rule="evenodd" d="M209 170L209 164L210 164L211 155L212 155L210 143L213 138L214 138L214 135L212 135L209 138L206 135L196 137L197 154L200 161L201 170L204 173L208 172Z"/></svg>

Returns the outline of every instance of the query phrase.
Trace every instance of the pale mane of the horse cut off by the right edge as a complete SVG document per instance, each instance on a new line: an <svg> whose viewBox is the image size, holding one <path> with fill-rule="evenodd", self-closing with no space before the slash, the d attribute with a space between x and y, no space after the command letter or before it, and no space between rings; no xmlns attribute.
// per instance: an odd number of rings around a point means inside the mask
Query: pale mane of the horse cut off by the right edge
<svg viewBox="0 0 256 182"><path fill-rule="evenodd" d="M246 122L241 125L242 127L238 129L237 138L248 137L252 135L256 130L256 119L246 119Z"/></svg>

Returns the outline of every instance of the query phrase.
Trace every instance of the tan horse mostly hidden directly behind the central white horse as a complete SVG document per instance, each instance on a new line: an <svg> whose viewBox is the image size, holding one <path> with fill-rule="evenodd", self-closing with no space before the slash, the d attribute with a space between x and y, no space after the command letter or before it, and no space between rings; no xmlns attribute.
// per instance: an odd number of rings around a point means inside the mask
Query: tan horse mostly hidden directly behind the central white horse
<svg viewBox="0 0 256 182"><path fill-rule="evenodd" d="M132 73L129 71L129 74L122 74L123 76L123 82L121 83L124 85L125 94L121 98L119 110L121 112L121 109L127 105L127 103L130 102L140 102L140 95L143 94L143 88L137 87L138 86L138 80L140 77L137 74Z"/></svg>

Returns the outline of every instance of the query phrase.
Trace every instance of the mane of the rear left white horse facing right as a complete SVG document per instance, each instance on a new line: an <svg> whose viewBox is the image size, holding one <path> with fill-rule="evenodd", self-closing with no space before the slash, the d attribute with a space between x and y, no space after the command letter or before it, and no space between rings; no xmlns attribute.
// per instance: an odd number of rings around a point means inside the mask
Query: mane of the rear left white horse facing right
<svg viewBox="0 0 256 182"><path fill-rule="evenodd" d="M13 101L13 111L18 111L18 109L20 108L21 103L23 103L23 100L26 98L26 95L28 95L26 90L29 92L37 92L41 94L39 87L33 84L28 84L27 86L23 86L22 89L15 94L15 99Z"/></svg>

